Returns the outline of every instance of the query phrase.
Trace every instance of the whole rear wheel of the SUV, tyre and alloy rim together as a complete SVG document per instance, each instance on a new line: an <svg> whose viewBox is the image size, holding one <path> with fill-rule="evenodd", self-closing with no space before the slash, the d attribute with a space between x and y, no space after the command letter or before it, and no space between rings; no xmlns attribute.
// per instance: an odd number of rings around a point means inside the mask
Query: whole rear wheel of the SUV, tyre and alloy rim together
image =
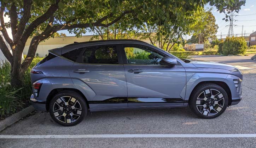
<svg viewBox="0 0 256 148"><path fill-rule="evenodd" d="M83 121L88 111L85 99L73 91L56 94L49 106L52 119L65 127L74 126Z"/></svg>

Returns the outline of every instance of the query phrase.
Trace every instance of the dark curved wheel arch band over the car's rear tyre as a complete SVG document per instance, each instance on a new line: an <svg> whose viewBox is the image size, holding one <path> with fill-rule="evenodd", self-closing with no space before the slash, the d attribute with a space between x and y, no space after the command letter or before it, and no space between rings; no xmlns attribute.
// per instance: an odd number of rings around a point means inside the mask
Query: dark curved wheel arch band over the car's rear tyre
<svg viewBox="0 0 256 148"><path fill-rule="evenodd" d="M80 91L80 90L77 90L75 88L55 88L53 89L47 96L46 98L46 110L48 111L49 110L49 105L50 105L50 101L52 100L52 98L59 92L63 92L63 91L73 91L73 92L76 92L78 94L80 94L86 101L86 105L89 109L89 104L88 104L88 100L87 98L85 97L85 95Z"/></svg>

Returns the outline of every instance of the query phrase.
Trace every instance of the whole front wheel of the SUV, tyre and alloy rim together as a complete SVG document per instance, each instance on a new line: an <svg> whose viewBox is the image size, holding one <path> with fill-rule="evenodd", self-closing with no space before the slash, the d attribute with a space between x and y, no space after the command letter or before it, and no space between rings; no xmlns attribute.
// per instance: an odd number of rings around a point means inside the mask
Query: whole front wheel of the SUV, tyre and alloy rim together
<svg viewBox="0 0 256 148"><path fill-rule="evenodd" d="M188 104L198 117L216 118L226 110L228 95L221 86L204 83L193 90Z"/></svg>

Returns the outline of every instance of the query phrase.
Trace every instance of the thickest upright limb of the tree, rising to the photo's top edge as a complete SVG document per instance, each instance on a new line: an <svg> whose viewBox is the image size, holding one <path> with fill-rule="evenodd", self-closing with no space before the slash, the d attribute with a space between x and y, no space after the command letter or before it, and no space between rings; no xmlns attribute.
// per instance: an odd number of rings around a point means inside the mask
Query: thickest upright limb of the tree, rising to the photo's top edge
<svg viewBox="0 0 256 148"><path fill-rule="evenodd" d="M17 33L15 33L15 36L13 38L14 43L16 43L19 38L21 38L23 31L25 29L26 24L28 23L29 18L31 17L31 6L32 6L32 1L31 0L24 0L24 5L23 5L23 16L21 18L21 21L18 26ZM29 34L30 35L30 34Z"/></svg>

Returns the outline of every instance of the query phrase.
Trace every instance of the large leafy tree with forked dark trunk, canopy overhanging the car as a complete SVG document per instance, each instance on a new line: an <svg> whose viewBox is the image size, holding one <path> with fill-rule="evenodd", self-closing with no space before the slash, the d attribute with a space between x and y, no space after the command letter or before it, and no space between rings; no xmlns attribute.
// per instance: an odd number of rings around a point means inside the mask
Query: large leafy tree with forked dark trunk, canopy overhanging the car
<svg viewBox="0 0 256 148"><path fill-rule="evenodd" d="M0 49L11 63L11 84L21 86L23 74L33 60L38 44L54 32L69 30L81 35L94 27L131 24L130 29L144 23L162 26L167 33L174 25L186 32L185 16L209 2L220 12L239 11L245 0L0 0ZM4 22L8 15L10 22ZM6 28L12 30L12 37ZM34 36L35 35L35 36ZM25 43L33 36L28 55L22 61ZM10 45L8 50L4 39Z"/></svg>

